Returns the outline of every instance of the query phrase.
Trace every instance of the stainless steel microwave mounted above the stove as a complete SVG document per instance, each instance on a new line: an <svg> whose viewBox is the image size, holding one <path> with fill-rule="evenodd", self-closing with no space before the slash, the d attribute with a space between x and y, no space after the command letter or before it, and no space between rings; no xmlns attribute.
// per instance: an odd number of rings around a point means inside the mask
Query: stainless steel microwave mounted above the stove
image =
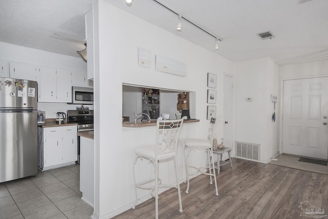
<svg viewBox="0 0 328 219"><path fill-rule="evenodd" d="M72 87L72 104L93 104L93 88Z"/></svg>

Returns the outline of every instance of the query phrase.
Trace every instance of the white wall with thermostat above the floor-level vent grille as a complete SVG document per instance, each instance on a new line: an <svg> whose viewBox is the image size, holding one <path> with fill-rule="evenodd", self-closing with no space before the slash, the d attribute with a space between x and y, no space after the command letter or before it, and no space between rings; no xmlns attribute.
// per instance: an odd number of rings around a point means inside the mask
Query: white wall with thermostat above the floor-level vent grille
<svg viewBox="0 0 328 219"><path fill-rule="evenodd" d="M278 152L278 126L277 120L272 122L274 106L270 102L271 94L278 95L277 79L277 65L269 58L236 63L235 141L260 144L264 163ZM246 101L248 97L252 102Z"/></svg>

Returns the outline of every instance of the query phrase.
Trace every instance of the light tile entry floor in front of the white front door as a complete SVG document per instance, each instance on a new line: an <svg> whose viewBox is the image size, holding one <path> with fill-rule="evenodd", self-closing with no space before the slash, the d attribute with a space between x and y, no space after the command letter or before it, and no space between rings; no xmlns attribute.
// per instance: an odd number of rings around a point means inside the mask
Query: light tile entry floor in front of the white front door
<svg viewBox="0 0 328 219"><path fill-rule="evenodd" d="M279 154L275 158L277 158L278 161L271 161L269 162L269 164L290 167L299 170L307 170L311 172L323 173L328 175L328 166L300 162L298 161L300 158L299 156Z"/></svg>

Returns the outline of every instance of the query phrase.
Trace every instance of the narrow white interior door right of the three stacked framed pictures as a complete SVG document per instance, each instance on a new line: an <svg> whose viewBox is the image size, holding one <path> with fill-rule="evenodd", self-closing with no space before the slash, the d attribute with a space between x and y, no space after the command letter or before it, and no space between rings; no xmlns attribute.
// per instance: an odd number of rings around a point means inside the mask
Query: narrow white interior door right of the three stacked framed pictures
<svg viewBox="0 0 328 219"><path fill-rule="evenodd" d="M233 133L234 133L234 101L235 101L235 92L234 92L234 77L231 75L224 75L224 97L223 97L223 107L224 107L224 145L226 147L233 147Z"/></svg>

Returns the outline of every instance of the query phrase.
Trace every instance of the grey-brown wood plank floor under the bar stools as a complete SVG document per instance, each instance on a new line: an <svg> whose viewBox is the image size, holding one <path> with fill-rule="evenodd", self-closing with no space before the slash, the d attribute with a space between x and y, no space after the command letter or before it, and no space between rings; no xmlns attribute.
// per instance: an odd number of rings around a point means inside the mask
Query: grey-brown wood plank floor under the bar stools
<svg viewBox="0 0 328 219"><path fill-rule="evenodd" d="M304 201L328 209L328 175L238 158L233 158L233 166L222 166L217 175L219 196L207 175L190 181L189 194L182 183L182 213L175 188L161 193L159 218L310 218L300 216ZM152 198L114 218L154 217Z"/></svg>

